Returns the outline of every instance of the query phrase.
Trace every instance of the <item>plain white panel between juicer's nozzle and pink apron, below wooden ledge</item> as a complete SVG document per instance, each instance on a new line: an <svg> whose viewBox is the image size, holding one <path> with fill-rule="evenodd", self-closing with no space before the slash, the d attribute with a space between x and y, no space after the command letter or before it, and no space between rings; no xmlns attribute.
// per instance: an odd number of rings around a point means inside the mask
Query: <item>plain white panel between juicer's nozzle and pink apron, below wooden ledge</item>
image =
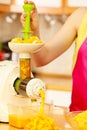
<svg viewBox="0 0 87 130"><path fill-rule="evenodd" d="M53 103L56 106L69 107L71 103L71 92L47 90L46 102Z"/></svg>

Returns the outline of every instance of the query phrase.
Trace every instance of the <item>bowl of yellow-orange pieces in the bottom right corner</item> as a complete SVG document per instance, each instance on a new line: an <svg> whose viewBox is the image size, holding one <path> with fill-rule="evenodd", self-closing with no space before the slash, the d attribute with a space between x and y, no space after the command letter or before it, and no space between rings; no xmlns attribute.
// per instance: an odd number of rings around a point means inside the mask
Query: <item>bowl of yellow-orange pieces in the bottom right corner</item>
<svg viewBox="0 0 87 130"><path fill-rule="evenodd" d="M87 111L72 111L65 113L66 120L74 130L87 130Z"/></svg>

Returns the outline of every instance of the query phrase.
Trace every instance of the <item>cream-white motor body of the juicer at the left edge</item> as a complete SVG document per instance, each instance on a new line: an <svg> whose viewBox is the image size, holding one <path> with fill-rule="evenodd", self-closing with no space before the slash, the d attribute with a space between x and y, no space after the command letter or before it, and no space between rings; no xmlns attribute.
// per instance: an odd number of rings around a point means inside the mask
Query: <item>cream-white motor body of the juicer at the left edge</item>
<svg viewBox="0 0 87 130"><path fill-rule="evenodd" d="M8 104L29 103L29 98L17 96L13 83L19 77L19 66L14 61L0 62L0 122L8 122Z"/></svg>

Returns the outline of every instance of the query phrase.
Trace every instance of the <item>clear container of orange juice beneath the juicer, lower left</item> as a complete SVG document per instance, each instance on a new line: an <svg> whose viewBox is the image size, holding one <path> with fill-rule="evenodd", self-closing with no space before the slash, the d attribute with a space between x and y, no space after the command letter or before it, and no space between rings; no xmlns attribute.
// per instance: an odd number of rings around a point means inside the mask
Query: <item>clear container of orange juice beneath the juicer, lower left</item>
<svg viewBox="0 0 87 130"><path fill-rule="evenodd" d="M24 106L21 104L8 104L9 125L20 129L24 128L29 121L29 118L35 116L38 112L39 106L36 104L29 106Z"/></svg>

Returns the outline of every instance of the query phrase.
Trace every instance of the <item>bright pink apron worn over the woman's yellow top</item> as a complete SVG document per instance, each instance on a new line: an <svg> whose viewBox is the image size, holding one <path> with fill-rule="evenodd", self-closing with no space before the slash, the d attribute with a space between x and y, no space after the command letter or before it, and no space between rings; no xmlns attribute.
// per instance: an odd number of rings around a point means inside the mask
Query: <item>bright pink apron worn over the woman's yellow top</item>
<svg viewBox="0 0 87 130"><path fill-rule="evenodd" d="M87 109L87 38L81 45L72 73L72 103L70 111Z"/></svg>

